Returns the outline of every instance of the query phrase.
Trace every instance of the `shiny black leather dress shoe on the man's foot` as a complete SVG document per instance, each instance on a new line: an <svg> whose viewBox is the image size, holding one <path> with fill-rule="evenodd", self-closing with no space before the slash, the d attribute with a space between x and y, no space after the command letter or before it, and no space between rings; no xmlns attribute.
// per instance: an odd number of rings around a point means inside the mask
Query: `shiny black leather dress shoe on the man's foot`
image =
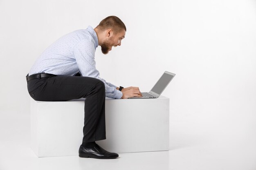
<svg viewBox="0 0 256 170"><path fill-rule="evenodd" d="M112 153L104 150L99 145L95 145L94 148L85 148L84 146L80 146L79 148L79 157L81 158L96 158L96 159L114 159L119 155L117 153Z"/></svg>

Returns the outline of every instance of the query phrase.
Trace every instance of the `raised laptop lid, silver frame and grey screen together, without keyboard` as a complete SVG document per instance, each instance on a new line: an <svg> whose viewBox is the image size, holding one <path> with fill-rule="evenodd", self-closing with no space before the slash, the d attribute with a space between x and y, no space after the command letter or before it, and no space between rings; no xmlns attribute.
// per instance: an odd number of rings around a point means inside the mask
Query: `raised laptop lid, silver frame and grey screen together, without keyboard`
<svg viewBox="0 0 256 170"><path fill-rule="evenodd" d="M174 76L175 76L174 73L170 73L168 71L165 71L164 74L159 78L159 80L153 86L153 88L150 90L149 93L159 97L161 95L161 93L164 91L164 89L171 82L171 80L173 79Z"/></svg>

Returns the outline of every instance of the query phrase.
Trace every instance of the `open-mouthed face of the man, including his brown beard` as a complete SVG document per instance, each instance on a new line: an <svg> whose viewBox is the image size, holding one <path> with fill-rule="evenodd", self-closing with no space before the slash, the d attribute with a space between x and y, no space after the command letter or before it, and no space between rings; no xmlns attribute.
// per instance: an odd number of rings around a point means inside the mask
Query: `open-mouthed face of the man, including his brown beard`
<svg viewBox="0 0 256 170"><path fill-rule="evenodd" d="M125 33L124 29L119 33L114 33L111 29L106 30L106 39L101 44L101 52L107 54L113 46L121 46L121 40L124 39Z"/></svg>

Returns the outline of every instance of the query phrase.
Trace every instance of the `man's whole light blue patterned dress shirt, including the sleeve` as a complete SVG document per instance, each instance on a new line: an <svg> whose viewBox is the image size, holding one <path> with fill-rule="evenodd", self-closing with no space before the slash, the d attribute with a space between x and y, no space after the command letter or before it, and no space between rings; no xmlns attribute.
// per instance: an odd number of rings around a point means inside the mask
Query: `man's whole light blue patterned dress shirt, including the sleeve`
<svg viewBox="0 0 256 170"><path fill-rule="evenodd" d="M79 72L84 77L100 79L105 84L106 97L120 99L123 93L116 89L117 86L99 77L94 60L98 45L98 37L92 26L68 33L38 57L29 75L49 73L72 76Z"/></svg>

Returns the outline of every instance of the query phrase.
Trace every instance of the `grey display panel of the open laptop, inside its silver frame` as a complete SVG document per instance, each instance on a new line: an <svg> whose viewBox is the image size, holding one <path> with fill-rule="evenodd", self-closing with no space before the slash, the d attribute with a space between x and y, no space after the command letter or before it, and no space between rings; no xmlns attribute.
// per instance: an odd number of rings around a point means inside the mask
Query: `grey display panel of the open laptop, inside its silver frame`
<svg viewBox="0 0 256 170"><path fill-rule="evenodd" d="M164 73L162 77L158 80L157 84L151 89L151 91L161 94L164 91L164 88L169 84L171 79L173 79L173 75Z"/></svg>

